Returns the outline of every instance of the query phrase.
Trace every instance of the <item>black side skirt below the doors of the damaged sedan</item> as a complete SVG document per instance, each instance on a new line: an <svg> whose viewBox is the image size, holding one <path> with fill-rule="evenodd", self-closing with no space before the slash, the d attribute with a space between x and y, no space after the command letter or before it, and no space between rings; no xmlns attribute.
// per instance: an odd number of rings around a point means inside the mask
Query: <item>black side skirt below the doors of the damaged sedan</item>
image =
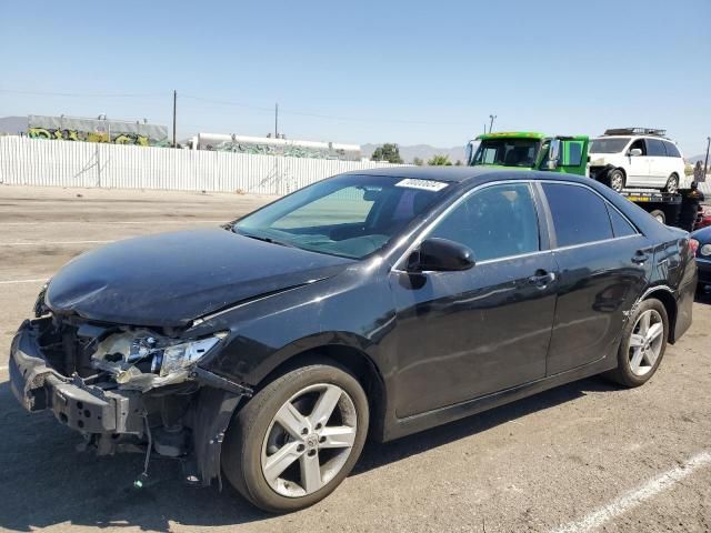
<svg viewBox="0 0 711 533"><path fill-rule="evenodd" d="M435 409L434 411L415 414L405 419L394 419L394 421L390 420L385 424L382 440L392 441L411 433L429 430L430 428L471 416L472 414L481 413L482 411L488 411L555 386L607 372L615 366L617 351L613 356L605 356L590 364L561 372L560 374L542 378L538 381L532 381L523 385L494 392L465 402L455 403L454 405Z"/></svg>

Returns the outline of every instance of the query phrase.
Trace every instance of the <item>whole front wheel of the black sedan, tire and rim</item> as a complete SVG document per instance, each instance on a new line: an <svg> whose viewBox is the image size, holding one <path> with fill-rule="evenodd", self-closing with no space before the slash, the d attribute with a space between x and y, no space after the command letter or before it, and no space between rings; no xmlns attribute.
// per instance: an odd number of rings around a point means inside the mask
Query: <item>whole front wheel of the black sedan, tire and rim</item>
<svg viewBox="0 0 711 533"><path fill-rule="evenodd" d="M333 414L319 416L317 411L328 409L317 408L330 404ZM368 399L348 370L336 363L301 366L274 379L233 415L222 471L258 507L298 511L328 496L346 479L363 449L368 424Z"/></svg>

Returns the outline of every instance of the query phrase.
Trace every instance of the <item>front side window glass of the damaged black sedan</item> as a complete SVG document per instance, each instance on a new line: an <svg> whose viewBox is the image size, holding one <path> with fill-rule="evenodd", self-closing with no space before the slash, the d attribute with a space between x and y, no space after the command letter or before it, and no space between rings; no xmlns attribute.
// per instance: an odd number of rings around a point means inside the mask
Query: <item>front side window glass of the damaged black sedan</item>
<svg viewBox="0 0 711 533"><path fill-rule="evenodd" d="M540 250L535 203L527 183L491 185L463 200L428 237L471 248L477 261Z"/></svg>

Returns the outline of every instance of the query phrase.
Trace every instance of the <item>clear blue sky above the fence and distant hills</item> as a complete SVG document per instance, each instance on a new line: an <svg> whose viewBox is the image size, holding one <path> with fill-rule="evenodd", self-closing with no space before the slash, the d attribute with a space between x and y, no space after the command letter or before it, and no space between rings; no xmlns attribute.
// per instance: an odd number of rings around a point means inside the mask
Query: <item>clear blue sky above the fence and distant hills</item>
<svg viewBox="0 0 711 533"><path fill-rule="evenodd" d="M493 113L494 130L664 127L695 155L709 21L709 0L3 2L0 117L170 125L176 89L179 137L266 134L279 102L292 139L461 145Z"/></svg>

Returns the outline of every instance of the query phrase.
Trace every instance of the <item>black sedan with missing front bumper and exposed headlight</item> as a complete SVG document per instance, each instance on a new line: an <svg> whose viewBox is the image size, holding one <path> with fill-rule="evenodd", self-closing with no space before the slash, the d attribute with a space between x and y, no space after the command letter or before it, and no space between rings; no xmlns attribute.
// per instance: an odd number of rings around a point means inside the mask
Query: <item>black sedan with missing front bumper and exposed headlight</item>
<svg viewBox="0 0 711 533"><path fill-rule="evenodd" d="M607 373L691 324L688 233L581 177L393 168L226 230L88 252L12 342L11 386L100 454L183 460L274 512L388 441Z"/></svg>

